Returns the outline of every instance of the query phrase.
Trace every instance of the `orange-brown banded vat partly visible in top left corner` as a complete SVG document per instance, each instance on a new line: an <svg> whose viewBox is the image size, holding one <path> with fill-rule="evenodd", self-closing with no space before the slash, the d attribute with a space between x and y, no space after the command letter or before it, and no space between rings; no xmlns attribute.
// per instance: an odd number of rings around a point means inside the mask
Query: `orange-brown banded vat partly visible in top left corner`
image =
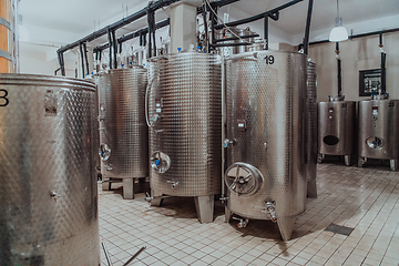
<svg viewBox="0 0 399 266"><path fill-rule="evenodd" d="M17 0L0 0L0 73L18 72L17 20Z"/></svg>

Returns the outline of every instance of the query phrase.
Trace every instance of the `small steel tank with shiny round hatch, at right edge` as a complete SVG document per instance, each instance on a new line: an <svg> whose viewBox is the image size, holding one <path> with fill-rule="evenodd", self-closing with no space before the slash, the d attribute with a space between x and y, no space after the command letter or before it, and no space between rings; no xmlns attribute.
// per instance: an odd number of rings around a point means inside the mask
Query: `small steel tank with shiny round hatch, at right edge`
<svg viewBox="0 0 399 266"><path fill-rule="evenodd" d="M399 100L387 94L359 102L359 166L367 158L389 160L390 168L398 171Z"/></svg>

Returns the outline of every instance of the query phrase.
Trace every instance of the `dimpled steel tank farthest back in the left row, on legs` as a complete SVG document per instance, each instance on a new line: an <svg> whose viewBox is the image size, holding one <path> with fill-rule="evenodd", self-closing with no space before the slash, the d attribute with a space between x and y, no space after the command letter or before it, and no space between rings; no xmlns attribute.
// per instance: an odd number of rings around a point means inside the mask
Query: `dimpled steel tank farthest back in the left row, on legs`
<svg viewBox="0 0 399 266"><path fill-rule="evenodd" d="M123 197L133 198L134 178L149 176L149 130L142 66L100 73L100 156L103 190L110 178L123 180Z"/></svg>

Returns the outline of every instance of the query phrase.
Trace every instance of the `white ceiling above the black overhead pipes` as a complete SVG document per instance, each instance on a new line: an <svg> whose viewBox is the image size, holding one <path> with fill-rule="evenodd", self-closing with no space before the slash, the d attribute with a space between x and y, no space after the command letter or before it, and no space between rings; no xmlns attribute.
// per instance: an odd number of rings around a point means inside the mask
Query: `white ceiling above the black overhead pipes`
<svg viewBox="0 0 399 266"><path fill-rule="evenodd" d="M21 0L20 13L23 16L23 24L32 25L53 31L70 33L83 38L86 34L103 28L116 20L131 14L147 4L146 0ZM266 10L279 7L289 0L242 0L228 7L224 7L221 13L228 12L231 18L242 19L258 14ZM68 3L68 4L66 4ZM336 0L314 0L311 18L311 30L332 28L336 17ZM127 8L127 11L126 11ZM308 1L305 0L293 7L280 11L278 21L270 21L270 24L287 32L288 34L300 34L305 30ZM399 14L398 0L340 0L340 17L344 25L371 19L386 18ZM160 10L156 20L167 18L167 14ZM136 21L117 31L117 35L131 32L146 25L146 18ZM399 27L399 21L398 21ZM72 34L73 33L73 34ZM106 40L98 40L101 44ZM60 44L66 44L60 43Z"/></svg>

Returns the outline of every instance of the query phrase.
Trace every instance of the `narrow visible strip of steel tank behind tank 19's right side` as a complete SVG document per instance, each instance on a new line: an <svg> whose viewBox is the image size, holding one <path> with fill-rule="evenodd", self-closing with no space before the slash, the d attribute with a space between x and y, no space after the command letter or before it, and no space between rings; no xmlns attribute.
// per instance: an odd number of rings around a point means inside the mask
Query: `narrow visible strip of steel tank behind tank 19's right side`
<svg viewBox="0 0 399 266"><path fill-rule="evenodd" d="M307 63L307 95L306 95L306 178L308 197L317 197L317 91L316 64Z"/></svg>

